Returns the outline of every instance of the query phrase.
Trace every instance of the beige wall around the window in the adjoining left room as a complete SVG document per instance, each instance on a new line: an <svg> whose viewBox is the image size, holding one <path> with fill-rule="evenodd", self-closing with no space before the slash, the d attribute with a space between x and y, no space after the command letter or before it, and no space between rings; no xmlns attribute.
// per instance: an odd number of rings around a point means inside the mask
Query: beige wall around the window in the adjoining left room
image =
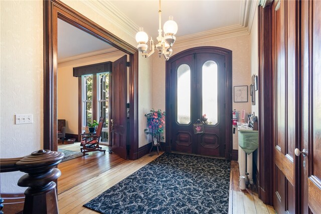
<svg viewBox="0 0 321 214"><path fill-rule="evenodd" d="M68 63L58 63L58 119L66 120L66 133L78 134L78 77L73 76L73 68L107 61L113 62L124 55L121 51L117 52L118 54L112 57L105 54L104 57L99 56L99 59L91 57L91 60L79 59Z"/></svg>

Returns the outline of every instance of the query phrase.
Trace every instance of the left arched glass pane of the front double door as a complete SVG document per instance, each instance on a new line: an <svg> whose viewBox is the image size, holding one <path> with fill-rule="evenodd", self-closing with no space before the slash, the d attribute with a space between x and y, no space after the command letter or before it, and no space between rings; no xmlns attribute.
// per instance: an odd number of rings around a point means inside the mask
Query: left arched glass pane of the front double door
<svg viewBox="0 0 321 214"><path fill-rule="evenodd" d="M191 68L187 64L177 69L177 122L191 122Z"/></svg>

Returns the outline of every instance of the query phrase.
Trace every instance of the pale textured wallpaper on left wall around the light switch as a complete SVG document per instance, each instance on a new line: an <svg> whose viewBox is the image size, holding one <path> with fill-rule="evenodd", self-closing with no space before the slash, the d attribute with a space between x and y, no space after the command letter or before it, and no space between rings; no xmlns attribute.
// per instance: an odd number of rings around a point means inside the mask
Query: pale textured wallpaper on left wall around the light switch
<svg viewBox="0 0 321 214"><path fill-rule="evenodd" d="M43 3L0 1L1 158L22 157L43 147ZM16 114L32 124L15 125ZM1 173L1 192L22 192L23 173Z"/></svg>

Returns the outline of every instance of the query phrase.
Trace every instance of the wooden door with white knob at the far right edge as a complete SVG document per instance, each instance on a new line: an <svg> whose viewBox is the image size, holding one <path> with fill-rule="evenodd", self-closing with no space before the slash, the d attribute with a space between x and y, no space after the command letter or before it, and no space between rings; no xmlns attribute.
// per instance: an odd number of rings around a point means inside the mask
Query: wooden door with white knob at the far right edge
<svg viewBox="0 0 321 214"><path fill-rule="evenodd" d="M301 2L302 132L299 155L301 209L321 212L321 3ZM304 167L305 165L305 167Z"/></svg>

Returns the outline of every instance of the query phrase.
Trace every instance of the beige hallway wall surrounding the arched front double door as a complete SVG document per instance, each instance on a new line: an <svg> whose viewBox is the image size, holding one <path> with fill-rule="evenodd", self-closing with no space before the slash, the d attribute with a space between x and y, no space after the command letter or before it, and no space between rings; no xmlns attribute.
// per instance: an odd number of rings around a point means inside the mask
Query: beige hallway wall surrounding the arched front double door
<svg viewBox="0 0 321 214"><path fill-rule="evenodd" d="M179 41L179 38L177 38ZM179 44L179 47L173 46L173 50L177 54L183 50L199 47L199 46L217 46L232 50L232 81L235 85L250 85L251 79L251 55L250 55L250 36L239 36L216 40L197 45L184 46ZM154 55L153 63L153 107L154 109L165 110L165 73L166 62L163 58L159 58L157 54ZM249 91L248 91L249 92ZM251 111L250 95L248 93L248 102L233 102L233 109L237 111L245 110L246 113ZM232 111L232 110L231 110ZM238 149L238 142L233 139L233 149Z"/></svg>

